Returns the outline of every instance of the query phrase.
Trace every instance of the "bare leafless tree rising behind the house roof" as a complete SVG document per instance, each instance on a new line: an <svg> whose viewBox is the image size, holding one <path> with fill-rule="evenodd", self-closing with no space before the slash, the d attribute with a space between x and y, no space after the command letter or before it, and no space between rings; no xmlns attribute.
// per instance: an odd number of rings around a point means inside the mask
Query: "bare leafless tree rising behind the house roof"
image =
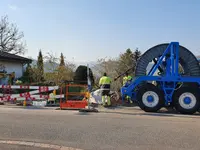
<svg viewBox="0 0 200 150"><path fill-rule="evenodd" d="M14 24L8 22L4 16L0 20L0 51L13 54L24 54L25 43L22 42L23 32L20 32Z"/></svg>

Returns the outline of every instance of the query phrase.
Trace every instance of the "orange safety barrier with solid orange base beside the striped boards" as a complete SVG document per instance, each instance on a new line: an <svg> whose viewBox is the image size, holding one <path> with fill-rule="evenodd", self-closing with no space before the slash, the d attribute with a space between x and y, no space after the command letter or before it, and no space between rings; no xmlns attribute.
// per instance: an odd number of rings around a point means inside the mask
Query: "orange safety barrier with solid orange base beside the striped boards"
<svg viewBox="0 0 200 150"><path fill-rule="evenodd" d="M82 109L88 105L87 85L68 84L65 88L65 98L60 99L60 109Z"/></svg>

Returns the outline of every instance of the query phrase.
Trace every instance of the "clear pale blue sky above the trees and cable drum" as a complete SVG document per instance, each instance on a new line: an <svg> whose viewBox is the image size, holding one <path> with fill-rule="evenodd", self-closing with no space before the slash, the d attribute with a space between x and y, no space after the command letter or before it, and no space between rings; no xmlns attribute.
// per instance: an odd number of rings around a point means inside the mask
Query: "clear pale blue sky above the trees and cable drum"
<svg viewBox="0 0 200 150"><path fill-rule="evenodd" d="M0 15L24 32L26 57L91 62L172 41L200 55L199 0L1 0Z"/></svg>

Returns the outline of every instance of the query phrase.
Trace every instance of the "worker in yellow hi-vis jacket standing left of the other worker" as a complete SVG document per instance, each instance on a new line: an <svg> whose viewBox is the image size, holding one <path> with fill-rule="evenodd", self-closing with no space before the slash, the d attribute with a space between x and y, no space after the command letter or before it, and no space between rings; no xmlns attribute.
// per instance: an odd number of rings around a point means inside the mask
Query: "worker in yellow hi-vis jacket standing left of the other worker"
<svg viewBox="0 0 200 150"><path fill-rule="evenodd" d="M107 96L107 105L111 106L111 101L110 101L110 84L111 84L111 78L107 76L107 73L103 74L103 77L100 78L99 80L99 86L101 87L102 90L102 103L103 106L106 106L105 103L105 96Z"/></svg>

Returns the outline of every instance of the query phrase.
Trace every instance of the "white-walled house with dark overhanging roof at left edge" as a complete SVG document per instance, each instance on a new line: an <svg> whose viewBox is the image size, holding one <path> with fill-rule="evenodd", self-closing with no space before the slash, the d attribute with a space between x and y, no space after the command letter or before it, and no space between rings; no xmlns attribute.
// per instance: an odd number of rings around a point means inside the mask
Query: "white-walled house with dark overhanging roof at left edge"
<svg viewBox="0 0 200 150"><path fill-rule="evenodd" d="M0 75L3 73L15 73L15 78L23 75L24 65L31 63L32 60L7 52L0 52Z"/></svg>

